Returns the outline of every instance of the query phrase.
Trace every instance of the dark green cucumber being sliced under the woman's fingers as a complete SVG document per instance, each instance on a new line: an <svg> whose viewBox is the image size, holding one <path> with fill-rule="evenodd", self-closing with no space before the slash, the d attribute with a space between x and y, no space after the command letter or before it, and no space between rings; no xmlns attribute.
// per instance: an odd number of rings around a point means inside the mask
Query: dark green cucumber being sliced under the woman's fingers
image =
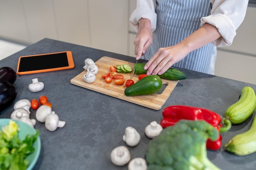
<svg viewBox="0 0 256 170"><path fill-rule="evenodd" d="M147 70L144 70L144 66L144 63L137 63L135 68L135 74L146 74ZM158 76L162 79L168 80L186 79L186 75L182 71L176 70L174 68L168 68L166 72Z"/></svg>

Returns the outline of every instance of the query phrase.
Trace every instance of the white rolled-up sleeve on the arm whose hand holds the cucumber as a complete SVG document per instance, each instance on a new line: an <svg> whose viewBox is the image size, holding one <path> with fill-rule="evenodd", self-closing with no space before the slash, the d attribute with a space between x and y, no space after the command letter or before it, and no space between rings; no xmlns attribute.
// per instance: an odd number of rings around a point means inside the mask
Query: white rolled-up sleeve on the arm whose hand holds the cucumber
<svg viewBox="0 0 256 170"><path fill-rule="evenodd" d="M211 15L201 18L201 26L209 23L216 26L221 37L213 42L216 46L229 46L242 24L248 0L211 0Z"/></svg>

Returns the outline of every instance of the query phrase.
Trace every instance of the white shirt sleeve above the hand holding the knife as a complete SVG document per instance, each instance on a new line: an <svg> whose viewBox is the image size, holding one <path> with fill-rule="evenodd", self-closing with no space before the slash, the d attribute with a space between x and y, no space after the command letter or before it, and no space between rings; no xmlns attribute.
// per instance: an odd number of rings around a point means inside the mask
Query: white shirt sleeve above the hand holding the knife
<svg viewBox="0 0 256 170"><path fill-rule="evenodd" d="M138 32L139 20L147 18L151 22L151 29L155 31L157 26L157 14L155 13L156 0L137 0L137 7L130 16L130 25Z"/></svg>

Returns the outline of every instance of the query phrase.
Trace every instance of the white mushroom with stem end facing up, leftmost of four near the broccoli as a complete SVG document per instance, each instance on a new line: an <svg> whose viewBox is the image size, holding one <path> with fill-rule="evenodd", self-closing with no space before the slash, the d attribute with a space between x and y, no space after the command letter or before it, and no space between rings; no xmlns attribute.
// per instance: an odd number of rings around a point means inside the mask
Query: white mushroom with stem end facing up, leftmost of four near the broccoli
<svg viewBox="0 0 256 170"><path fill-rule="evenodd" d="M116 166L125 166L130 161L130 152L125 146L118 146L110 154L111 162Z"/></svg>

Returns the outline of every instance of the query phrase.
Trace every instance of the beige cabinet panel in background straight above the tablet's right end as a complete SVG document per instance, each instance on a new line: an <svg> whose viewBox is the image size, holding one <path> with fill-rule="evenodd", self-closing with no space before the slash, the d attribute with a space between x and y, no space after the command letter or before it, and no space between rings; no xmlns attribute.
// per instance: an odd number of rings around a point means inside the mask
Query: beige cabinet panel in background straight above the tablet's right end
<svg viewBox="0 0 256 170"><path fill-rule="evenodd" d="M54 0L58 40L91 46L88 0Z"/></svg>

